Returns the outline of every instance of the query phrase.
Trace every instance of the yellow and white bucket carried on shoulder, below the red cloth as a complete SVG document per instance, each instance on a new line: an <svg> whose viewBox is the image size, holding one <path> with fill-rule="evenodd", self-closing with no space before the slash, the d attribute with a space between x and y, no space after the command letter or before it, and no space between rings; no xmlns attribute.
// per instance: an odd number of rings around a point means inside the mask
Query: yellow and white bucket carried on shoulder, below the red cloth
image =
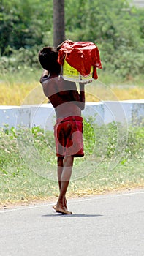
<svg viewBox="0 0 144 256"><path fill-rule="evenodd" d="M85 83L92 80L93 67L91 66L91 73L87 76L80 75L74 67L70 66L66 60L64 60L64 65L62 67L62 73L64 80L69 80L72 82Z"/></svg>

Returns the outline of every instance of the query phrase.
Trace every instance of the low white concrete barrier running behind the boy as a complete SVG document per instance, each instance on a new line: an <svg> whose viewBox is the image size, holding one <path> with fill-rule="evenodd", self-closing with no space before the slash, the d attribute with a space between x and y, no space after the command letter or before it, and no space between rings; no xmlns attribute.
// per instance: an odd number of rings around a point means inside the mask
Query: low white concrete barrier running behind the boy
<svg viewBox="0 0 144 256"><path fill-rule="evenodd" d="M112 121L121 122L132 126L144 126L144 99L127 100L121 102L86 102L86 108L82 111L83 118L93 119L99 125L109 124ZM0 127L42 127L53 130L56 115L53 106L22 105L0 106Z"/></svg>

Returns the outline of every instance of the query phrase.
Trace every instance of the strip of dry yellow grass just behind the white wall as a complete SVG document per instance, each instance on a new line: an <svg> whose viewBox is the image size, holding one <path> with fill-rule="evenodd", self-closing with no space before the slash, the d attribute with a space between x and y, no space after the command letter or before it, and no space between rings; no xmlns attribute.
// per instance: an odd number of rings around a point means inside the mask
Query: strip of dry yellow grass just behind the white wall
<svg viewBox="0 0 144 256"><path fill-rule="evenodd" d="M0 105L22 105L45 103L48 100L44 97L39 80L31 83L9 83L1 82ZM102 100L126 100L144 99L144 88L142 86L91 86L86 87L86 101L99 102Z"/></svg>

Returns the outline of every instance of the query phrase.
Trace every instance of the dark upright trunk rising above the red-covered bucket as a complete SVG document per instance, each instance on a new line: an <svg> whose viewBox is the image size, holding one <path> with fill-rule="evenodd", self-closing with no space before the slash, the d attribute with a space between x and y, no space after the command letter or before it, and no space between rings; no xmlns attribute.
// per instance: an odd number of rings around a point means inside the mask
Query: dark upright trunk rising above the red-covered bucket
<svg viewBox="0 0 144 256"><path fill-rule="evenodd" d="M65 40L64 0L53 0L53 45Z"/></svg>

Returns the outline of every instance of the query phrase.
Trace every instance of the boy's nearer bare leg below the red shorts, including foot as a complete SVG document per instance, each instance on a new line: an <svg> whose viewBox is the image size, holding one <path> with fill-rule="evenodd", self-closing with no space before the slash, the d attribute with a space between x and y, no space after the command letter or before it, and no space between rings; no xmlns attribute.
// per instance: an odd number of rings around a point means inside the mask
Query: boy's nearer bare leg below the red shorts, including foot
<svg viewBox="0 0 144 256"><path fill-rule="evenodd" d="M58 197L58 203L56 205L56 211L59 211L64 214L72 214L72 212L67 211L67 208L64 206L65 196L67 192L67 188L69 186L69 180L72 174L72 165L73 165L73 159L72 156L65 156L63 159L63 170L60 171L61 168L59 168L58 172L61 173L61 180L59 180L60 184L60 194ZM60 176L59 176L60 177Z"/></svg>

